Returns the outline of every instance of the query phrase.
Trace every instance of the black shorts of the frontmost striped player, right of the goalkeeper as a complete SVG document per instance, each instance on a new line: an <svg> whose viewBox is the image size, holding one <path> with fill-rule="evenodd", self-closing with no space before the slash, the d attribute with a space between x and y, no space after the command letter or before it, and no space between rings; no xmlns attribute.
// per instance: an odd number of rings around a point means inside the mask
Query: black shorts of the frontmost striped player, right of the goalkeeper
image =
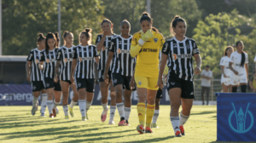
<svg viewBox="0 0 256 143"><path fill-rule="evenodd" d="M173 88L182 89L181 98L195 99L194 82L179 78L177 74L171 72L168 75L167 89L169 91L170 89L173 89Z"/></svg>

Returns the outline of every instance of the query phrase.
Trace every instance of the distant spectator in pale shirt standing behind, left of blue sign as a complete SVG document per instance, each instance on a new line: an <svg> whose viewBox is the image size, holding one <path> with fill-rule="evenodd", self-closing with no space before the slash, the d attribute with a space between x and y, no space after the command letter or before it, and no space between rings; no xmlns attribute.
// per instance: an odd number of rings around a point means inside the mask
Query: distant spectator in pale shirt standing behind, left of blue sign
<svg viewBox="0 0 256 143"><path fill-rule="evenodd" d="M209 93L211 88L212 71L210 66L206 66L205 70L201 72L201 98L202 105L205 105L205 91L207 91L207 105L209 105Z"/></svg>

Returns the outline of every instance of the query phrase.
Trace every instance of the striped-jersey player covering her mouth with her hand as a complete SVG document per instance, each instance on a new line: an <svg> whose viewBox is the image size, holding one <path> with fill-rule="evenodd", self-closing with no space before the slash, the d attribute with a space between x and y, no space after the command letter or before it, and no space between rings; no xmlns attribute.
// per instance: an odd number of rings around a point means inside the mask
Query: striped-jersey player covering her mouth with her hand
<svg viewBox="0 0 256 143"><path fill-rule="evenodd" d="M96 39L96 49L97 51L100 51L100 61L98 64L98 70L99 70L99 82L100 82L100 89L102 93L102 122L105 122L107 118L108 113L108 89L109 85L112 85L111 81L111 71L108 71L108 80L109 83L105 83L103 80L104 76L104 70L106 66L106 61L108 59L108 48L110 47L111 39L115 37L116 35L113 34L113 23L108 20L102 20L102 34L97 36ZM110 68L111 69L111 68ZM111 97L111 103L110 103L110 119L109 124L113 124L113 117L116 110L116 104L115 104L115 93L113 89L113 85L110 88L110 97Z"/></svg>

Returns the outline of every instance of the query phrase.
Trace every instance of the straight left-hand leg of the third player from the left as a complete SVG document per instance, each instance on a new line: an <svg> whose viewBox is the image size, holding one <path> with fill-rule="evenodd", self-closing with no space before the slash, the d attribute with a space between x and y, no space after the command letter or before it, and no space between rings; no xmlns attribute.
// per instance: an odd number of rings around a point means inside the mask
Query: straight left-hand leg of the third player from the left
<svg viewBox="0 0 256 143"><path fill-rule="evenodd" d="M69 94L69 83L66 81L61 81L61 89L62 89L62 107L65 115L65 119L68 119L68 94Z"/></svg>

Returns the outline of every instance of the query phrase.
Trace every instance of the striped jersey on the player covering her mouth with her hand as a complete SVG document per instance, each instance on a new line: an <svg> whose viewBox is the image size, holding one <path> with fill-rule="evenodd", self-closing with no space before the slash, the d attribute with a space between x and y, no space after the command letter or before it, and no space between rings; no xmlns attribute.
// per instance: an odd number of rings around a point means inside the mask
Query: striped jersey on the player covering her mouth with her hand
<svg viewBox="0 0 256 143"><path fill-rule="evenodd" d="M105 41L103 43L103 48L100 51L101 59L98 64L98 68L97 68L98 70L105 70L106 62L108 60L108 49L111 44L111 39L116 36L117 36L116 34L113 34L112 36L106 36ZM96 38L96 43L100 43L100 41L102 40L102 37L103 37L102 34L98 35ZM110 67L112 67L112 63L110 64ZM109 68L109 71L110 70L111 69Z"/></svg>

